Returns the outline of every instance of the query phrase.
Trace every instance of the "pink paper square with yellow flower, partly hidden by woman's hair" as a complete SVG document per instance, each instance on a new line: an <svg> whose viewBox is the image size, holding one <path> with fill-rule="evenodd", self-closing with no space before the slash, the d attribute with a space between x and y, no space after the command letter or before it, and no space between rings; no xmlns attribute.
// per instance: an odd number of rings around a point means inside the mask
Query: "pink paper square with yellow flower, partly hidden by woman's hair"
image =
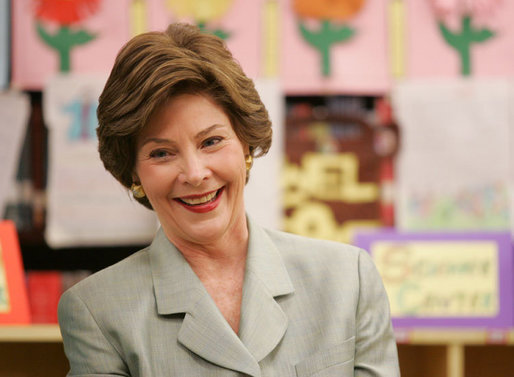
<svg viewBox="0 0 514 377"><path fill-rule="evenodd" d="M147 19L151 30L164 30L170 22L204 22L209 31L226 33L226 43L245 73L261 73L263 13L266 0L148 0Z"/></svg>

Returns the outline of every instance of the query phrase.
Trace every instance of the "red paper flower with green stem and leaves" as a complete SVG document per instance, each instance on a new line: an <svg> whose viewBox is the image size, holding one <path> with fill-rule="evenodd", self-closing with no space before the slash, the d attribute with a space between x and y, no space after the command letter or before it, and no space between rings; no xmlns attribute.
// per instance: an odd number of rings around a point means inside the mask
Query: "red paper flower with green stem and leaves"
<svg viewBox="0 0 514 377"><path fill-rule="evenodd" d="M59 54L59 70L71 69L70 52L74 46L90 42L94 34L86 30L74 30L72 26L98 11L100 0L34 0L36 28L39 37ZM59 25L51 34L44 23Z"/></svg>

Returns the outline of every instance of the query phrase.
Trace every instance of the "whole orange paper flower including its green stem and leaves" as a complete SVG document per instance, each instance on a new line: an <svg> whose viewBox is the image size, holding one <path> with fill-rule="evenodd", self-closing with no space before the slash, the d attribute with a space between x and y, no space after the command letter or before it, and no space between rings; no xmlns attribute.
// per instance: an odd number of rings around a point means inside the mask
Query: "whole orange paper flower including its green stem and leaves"
<svg viewBox="0 0 514 377"><path fill-rule="evenodd" d="M344 22L354 17L364 2L365 0L294 0L293 7L299 16L300 33L307 43L319 51L323 76L330 75L332 45L346 41L355 34L355 30ZM320 28L309 29L304 19L318 20Z"/></svg>

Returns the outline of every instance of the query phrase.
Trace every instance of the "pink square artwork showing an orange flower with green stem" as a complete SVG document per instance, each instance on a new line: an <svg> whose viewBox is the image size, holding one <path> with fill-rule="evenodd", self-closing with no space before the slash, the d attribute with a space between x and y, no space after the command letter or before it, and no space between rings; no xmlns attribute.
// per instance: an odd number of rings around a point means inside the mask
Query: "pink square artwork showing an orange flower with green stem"
<svg viewBox="0 0 514 377"><path fill-rule="evenodd" d="M283 1L286 93L384 93L390 79L386 10L380 0Z"/></svg>

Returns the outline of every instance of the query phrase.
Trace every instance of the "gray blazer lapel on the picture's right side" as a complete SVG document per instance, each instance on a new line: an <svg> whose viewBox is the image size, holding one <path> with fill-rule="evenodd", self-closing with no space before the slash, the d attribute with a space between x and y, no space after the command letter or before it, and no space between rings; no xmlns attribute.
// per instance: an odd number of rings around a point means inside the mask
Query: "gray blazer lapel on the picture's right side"
<svg viewBox="0 0 514 377"><path fill-rule="evenodd" d="M266 232L248 219L250 239L239 337L257 362L278 345L287 316L276 297L294 291L278 250Z"/></svg>

